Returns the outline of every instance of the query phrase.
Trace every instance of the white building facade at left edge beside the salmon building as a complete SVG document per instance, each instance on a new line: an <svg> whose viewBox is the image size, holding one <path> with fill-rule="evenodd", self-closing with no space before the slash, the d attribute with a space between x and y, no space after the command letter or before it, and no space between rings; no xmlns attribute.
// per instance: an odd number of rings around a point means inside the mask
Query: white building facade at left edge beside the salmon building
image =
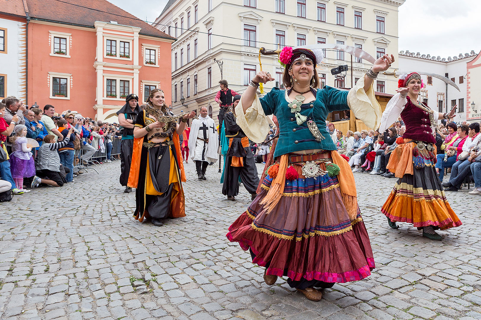
<svg viewBox="0 0 481 320"><path fill-rule="evenodd" d="M25 18L0 12L0 61L0 100L14 95L26 101Z"/></svg>

